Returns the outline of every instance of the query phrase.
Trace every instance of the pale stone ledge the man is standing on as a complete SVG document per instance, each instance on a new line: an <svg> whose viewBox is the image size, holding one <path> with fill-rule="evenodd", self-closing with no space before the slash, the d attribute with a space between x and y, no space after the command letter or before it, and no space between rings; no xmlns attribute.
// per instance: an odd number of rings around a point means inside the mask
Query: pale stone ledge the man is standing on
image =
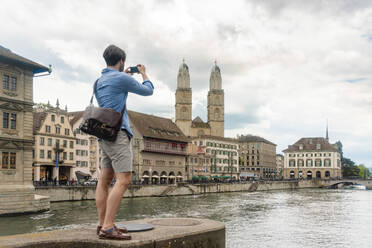
<svg viewBox="0 0 372 248"><path fill-rule="evenodd" d="M58 230L0 237L0 247L44 248L224 248L225 225L207 219L143 219L128 221L133 224L152 224L155 229L131 233L130 241L101 240L95 234L95 226L88 229ZM118 224L125 224L118 223Z"/></svg>

